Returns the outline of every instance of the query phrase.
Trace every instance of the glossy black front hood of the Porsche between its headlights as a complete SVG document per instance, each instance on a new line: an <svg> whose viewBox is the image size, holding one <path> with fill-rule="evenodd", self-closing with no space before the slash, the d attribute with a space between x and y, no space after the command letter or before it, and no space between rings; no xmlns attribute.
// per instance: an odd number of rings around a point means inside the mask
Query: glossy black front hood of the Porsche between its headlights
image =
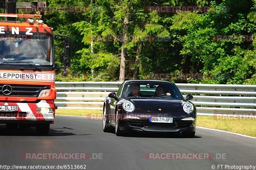
<svg viewBox="0 0 256 170"><path fill-rule="evenodd" d="M187 100L173 100L173 99L128 99L132 101L135 106L134 113L150 114L163 117L167 116L188 116L184 112L183 104Z"/></svg>

